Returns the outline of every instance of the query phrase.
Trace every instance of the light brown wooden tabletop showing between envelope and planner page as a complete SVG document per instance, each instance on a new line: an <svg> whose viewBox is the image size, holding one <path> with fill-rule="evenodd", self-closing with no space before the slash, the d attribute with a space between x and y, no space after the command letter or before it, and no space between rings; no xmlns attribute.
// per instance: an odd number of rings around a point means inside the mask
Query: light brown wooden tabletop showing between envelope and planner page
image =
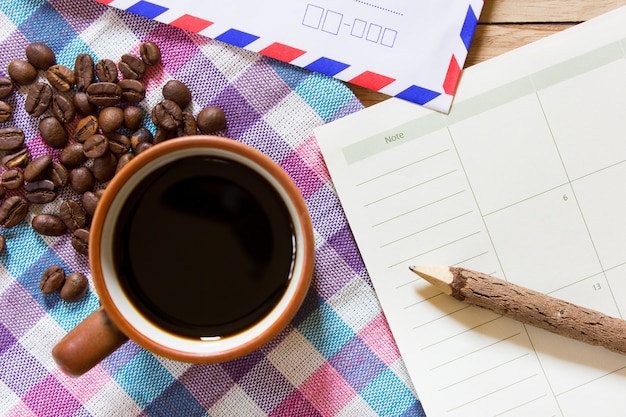
<svg viewBox="0 0 626 417"><path fill-rule="evenodd" d="M625 5L626 0L487 0L465 67ZM377 91L348 86L366 107L389 98Z"/></svg>

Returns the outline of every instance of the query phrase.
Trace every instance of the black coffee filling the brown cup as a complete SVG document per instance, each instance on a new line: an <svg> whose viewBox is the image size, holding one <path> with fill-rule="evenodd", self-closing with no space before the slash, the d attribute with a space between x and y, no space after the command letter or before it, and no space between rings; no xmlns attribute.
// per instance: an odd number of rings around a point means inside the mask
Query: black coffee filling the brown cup
<svg viewBox="0 0 626 417"><path fill-rule="evenodd" d="M192 338L237 333L282 296L294 258L293 225L255 171L194 156L133 191L116 225L117 272L136 307Z"/></svg>

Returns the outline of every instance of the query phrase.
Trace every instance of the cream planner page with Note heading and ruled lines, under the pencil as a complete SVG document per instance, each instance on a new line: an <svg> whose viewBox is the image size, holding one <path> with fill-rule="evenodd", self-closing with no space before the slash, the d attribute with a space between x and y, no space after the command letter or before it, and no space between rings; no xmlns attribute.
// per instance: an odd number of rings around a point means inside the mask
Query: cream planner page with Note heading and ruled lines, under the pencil
<svg viewBox="0 0 626 417"><path fill-rule="evenodd" d="M626 8L471 67L450 114L316 130L429 417L623 416L626 356L441 294L465 266L626 315Z"/></svg>

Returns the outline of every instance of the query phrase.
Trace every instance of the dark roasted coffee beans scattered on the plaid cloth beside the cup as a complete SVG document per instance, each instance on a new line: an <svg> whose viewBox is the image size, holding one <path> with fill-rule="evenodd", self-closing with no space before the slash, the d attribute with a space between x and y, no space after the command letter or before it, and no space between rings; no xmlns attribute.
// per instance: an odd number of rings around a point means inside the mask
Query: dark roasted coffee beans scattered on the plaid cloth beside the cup
<svg viewBox="0 0 626 417"><path fill-rule="evenodd" d="M111 59L94 64L90 55L79 54L72 69L57 63L52 49L41 42L29 44L25 55L26 59L9 62L8 77L0 77L0 123L10 121L14 113L9 104L13 101L3 99L13 94L15 84L28 86L24 110L39 118L41 140L60 152L39 154L31 160L24 146L24 131L17 126L0 128L0 163L4 166L0 226L4 228L24 221L31 204L50 203L69 186L78 198L59 203L58 214L34 215L31 226L46 236L71 233L74 249L88 255L90 219L104 192L96 189L98 184L105 186L135 155L157 143L195 135L199 128L214 133L226 127L224 113L217 107L202 110L197 118L183 111L192 95L187 85L177 80L163 86L163 100L148 111L156 133L142 126L146 115L135 104L146 97L141 79L147 67L158 65L162 58L153 42L140 45L139 57L124 54L117 64ZM118 79L118 70L122 79ZM45 76L43 81L37 81L39 71ZM20 195L6 197L6 189ZM0 251L5 245L5 237L0 235ZM62 299L75 301L87 291L88 281L79 273L66 277L63 269L54 265L42 274L40 289L44 294L60 290Z"/></svg>

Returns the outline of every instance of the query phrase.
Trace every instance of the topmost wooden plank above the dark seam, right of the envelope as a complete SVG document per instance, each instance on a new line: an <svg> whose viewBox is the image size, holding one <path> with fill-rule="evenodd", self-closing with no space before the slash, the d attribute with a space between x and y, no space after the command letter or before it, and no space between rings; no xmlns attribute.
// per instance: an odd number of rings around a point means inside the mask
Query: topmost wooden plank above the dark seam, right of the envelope
<svg viewBox="0 0 626 417"><path fill-rule="evenodd" d="M626 0L486 0L480 22L583 22L621 6Z"/></svg>

